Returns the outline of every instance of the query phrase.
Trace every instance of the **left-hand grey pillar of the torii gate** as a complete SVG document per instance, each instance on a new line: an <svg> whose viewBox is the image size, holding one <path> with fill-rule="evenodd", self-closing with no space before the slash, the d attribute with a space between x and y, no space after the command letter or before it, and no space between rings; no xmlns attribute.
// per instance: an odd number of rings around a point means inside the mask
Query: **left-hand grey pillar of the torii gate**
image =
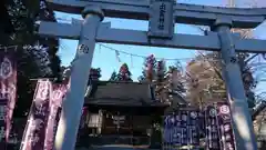
<svg viewBox="0 0 266 150"><path fill-rule="evenodd" d="M83 10L82 17L84 20L76 54L72 62L70 88L62 104L62 113L55 136L55 150L74 150L95 48L95 37L104 13L100 7L88 6Z"/></svg>

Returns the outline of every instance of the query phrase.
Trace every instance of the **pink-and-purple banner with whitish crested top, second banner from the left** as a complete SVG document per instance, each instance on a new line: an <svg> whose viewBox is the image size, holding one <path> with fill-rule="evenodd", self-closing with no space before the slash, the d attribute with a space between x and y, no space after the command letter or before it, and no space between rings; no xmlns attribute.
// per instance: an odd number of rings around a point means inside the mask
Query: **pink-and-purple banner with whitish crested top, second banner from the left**
<svg viewBox="0 0 266 150"><path fill-rule="evenodd" d="M20 150L43 150L52 83L38 80Z"/></svg>

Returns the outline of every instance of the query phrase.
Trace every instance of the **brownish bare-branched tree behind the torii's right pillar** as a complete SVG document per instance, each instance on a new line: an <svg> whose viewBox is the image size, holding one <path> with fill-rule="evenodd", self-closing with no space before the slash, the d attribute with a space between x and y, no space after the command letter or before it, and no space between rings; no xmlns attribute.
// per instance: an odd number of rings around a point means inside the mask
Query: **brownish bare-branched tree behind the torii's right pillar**
<svg viewBox="0 0 266 150"><path fill-rule="evenodd" d="M235 0L229 0L228 7L236 7ZM205 28L197 28L201 31L206 30ZM232 32L239 33L242 38L253 38L253 29L232 29ZM197 57L187 64L187 99L192 104L203 106L216 100L226 100L226 89L223 82L219 58L217 52L198 52ZM254 107L254 89L259 81L255 74L258 71L257 68L262 67L262 64L256 64L254 61L262 58L262 56L237 53L237 58L249 107Z"/></svg>

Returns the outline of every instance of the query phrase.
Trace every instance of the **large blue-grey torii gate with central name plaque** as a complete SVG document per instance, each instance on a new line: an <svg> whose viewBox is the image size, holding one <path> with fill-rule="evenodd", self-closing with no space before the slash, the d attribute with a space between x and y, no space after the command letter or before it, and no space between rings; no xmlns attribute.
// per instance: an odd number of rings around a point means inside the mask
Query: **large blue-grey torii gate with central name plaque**
<svg viewBox="0 0 266 150"><path fill-rule="evenodd" d="M255 134L237 63L236 52L265 53L266 41L241 39L231 28L255 28L266 9L236 9L180 4L174 0L48 0L55 10L82 13L81 22L40 23L42 36L79 39L72 63L71 87L63 102L55 149L73 150L95 42L221 51L223 76L233 113L237 150L257 150ZM112 29L103 18L149 20L149 31ZM205 36L174 33L174 24L209 26Z"/></svg>

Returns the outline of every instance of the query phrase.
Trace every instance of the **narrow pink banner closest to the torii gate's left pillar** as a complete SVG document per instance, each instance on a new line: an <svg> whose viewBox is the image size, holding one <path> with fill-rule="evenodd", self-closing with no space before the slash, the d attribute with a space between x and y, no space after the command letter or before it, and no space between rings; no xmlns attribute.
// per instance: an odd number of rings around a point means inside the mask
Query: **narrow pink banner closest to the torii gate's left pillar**
<svg viewBox="0 0 266 150"><path fill-rule="evenodd" d="M54 138L58 129L58 122L60 119L61 104L65 96L68 84L53 84L52 97L50 99L50 113L47 126L47 133L44 140L44 150L53 150Z"/></svg>

